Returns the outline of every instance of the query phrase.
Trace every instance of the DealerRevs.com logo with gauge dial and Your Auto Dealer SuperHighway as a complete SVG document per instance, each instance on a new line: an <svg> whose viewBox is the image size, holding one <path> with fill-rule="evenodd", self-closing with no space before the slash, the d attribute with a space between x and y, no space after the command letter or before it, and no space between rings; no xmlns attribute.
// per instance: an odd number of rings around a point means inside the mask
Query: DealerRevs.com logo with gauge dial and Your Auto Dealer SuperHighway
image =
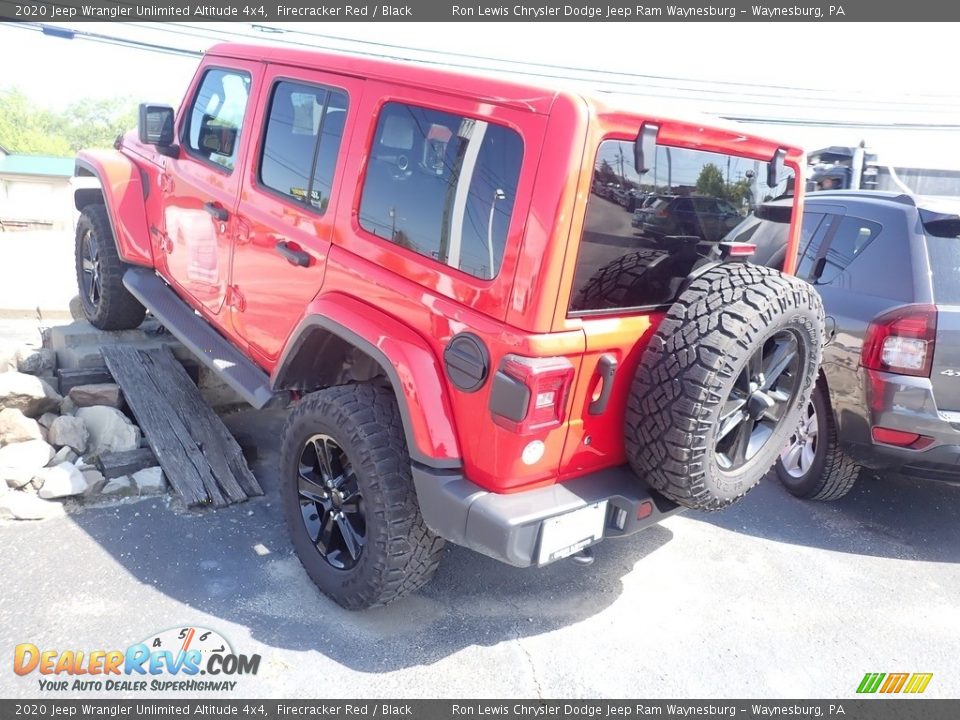
<svg viewBox="0 0 960 720"><path fill-rule="evenodd" d="M41 649L20 643L13 653L17 675L33 673L44 691L229 692L240 675L256 675L259 655L233 651L214 630L183 627L156 633L126 650Z"/></svg>

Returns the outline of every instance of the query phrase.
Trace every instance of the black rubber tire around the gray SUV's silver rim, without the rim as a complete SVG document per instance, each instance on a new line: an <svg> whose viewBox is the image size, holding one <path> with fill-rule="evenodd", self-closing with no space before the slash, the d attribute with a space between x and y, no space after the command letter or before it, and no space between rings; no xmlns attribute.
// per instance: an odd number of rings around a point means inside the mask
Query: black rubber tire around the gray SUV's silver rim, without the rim
<svg viewBox="0 0 960 720"><path fill-rule="evenodd" d="M790 492L804 500L839 500L853 490L861 467L837 444L837 426L830 408L829 393L818 382L810 398L817 416L817 447L813 462L803 477L787 472L777 459L777 477Z"/></svg>

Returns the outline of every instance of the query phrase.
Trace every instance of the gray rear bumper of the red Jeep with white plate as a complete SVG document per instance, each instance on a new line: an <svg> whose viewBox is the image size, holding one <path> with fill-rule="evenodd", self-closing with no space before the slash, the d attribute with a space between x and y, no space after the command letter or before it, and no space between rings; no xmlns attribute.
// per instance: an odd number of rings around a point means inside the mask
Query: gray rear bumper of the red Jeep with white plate
<svg viewBox="0 0 960 720"><path fill-rule="evenodd" d="M558 542L558 533L566 535L558 544L560 552L566 554L603 538L632 535L683 510L648 489L627 466L509 495L488 492L462 474L416 463L413 481L420 513L433 532L517 567L546 565L559 559L541 554L544 527L548 521L559 525L562 521L557 522L557 518L569 517L575 511L602 504L602 531L585 535L576 527L551 528L553 544Z"/></svg>

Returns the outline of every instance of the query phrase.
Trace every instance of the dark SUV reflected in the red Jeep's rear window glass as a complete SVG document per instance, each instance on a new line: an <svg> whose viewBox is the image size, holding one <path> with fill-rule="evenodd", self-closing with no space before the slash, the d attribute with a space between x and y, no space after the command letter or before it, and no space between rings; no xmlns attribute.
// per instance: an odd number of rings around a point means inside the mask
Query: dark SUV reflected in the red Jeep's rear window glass
<svg viewBox="0 0 960 720"><path fill-rule="evenodd" d="M717 242L743 219L730 201L695 195L662 195L646 210L641 230L654 238L696 235Z"/></svg>

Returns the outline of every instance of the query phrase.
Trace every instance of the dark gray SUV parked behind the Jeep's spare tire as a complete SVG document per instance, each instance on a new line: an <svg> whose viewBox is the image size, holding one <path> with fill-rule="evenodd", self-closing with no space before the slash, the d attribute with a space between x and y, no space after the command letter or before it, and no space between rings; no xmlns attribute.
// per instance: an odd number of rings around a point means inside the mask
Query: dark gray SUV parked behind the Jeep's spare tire
<svg viewBox="0 0 960 720"><path fill-rule="evenodd" d="M770 202L727 239L777 267L788 221ZM960 481L960 200L810 193L799 250L827 345L780 480L817 500L844 496L862 467Z"/></svg>

